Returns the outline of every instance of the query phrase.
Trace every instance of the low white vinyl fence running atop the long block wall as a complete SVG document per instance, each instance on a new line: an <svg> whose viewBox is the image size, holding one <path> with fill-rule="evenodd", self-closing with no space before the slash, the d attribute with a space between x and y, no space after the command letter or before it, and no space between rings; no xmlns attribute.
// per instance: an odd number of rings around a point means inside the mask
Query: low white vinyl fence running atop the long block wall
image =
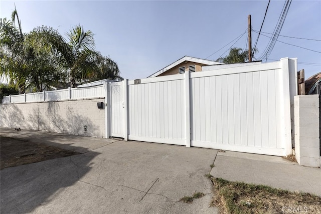
<svg viewBox="0 0 321 214"><path fill-rule="evenodd" d="M2 100L2 103L30 103L104 97L104 91L105 89L103 85L92 86L88 88L67 88L55 91L43 91L37 93L5 96Z"/></svg>

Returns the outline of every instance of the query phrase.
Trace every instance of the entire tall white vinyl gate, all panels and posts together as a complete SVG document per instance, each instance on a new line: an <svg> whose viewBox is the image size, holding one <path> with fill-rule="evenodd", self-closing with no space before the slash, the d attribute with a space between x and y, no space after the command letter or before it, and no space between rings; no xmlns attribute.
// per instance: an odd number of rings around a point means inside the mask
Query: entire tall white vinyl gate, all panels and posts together
<svg viewBox="0 0 321 214"><path fill-rule="evenodd" d="M290 98L295 91L289 74L296 73L293 69L296 60L284 58L274 63L109 83L110 135L289 154Z"/></svg>

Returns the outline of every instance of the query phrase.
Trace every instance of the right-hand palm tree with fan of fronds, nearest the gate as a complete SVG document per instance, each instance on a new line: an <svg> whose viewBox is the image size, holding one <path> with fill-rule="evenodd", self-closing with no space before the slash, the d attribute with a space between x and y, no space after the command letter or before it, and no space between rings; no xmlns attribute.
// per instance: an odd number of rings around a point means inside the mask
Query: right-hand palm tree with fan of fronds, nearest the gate
<svg viewBox="0 0 321 214"><path fill-rule="evenodd" d="M95 51L93 33L85 32L79 25L67 33L68 41L57 30L45 26L34 29L30 34L32 43L50 44L56 62L65 68L71 87L103 77L101 74L104 72L109 75L106 77L120 77L117 64Z"/></svg>

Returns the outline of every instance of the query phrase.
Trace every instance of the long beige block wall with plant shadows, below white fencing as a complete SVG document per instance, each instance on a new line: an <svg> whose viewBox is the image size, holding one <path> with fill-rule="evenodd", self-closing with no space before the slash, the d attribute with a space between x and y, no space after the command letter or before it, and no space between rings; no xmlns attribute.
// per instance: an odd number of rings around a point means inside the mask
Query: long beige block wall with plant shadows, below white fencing
<svg viewBox="0 0 321 214"><path fill-rule="evenodd" d="M0 105L0 126L105 137L104 98ZM87 131L84 130L87 126Z"/></svg>

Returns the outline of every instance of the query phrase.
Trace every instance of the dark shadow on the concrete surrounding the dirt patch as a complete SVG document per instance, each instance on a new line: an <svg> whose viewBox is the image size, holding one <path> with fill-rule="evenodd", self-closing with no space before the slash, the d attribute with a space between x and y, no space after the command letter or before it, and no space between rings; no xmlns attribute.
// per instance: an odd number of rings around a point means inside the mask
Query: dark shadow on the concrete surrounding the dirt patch
<svg viewBox="0 0 321 214"><path fill-rule="evenodd" d="M9 132L10 133L10 132ZM20 165L16 167L5 168L1 170L1 213L26 213L32 212L39 206L50 203L51 198L55 197L61 191L75 184L81 177L91 170L91 161L99 152L90 151L88 148L73 146L90 142L80 142L90 140L88 137L75 137L77 142L69 142L68 136L61 139L65 143L52 142L59 140L59 135L49 134L47 139L37 138L40 132L16 132L10 134L10 137L27 140L35 137L36 144L50 144L54 147L65 147L72 151L81 151L84 154L73 155L69 157L56 158L42 162ZM2 135L6 131L2 128ZM8 134L7 134L8 136ZM16 137L15 137L16 136ZM45 137L44 135L42 135ZM71 139L71 138L69 138ZM75 140L73 139L73 140ZM19 141L16 141L19 143ZM42 143L39 143L42 142ZM94 145L91 145L94 146ZM100 147L100 145L98 145ZM75 197L75 196L72 196ZM54 210L52 210L54 212Z"/></svg>

